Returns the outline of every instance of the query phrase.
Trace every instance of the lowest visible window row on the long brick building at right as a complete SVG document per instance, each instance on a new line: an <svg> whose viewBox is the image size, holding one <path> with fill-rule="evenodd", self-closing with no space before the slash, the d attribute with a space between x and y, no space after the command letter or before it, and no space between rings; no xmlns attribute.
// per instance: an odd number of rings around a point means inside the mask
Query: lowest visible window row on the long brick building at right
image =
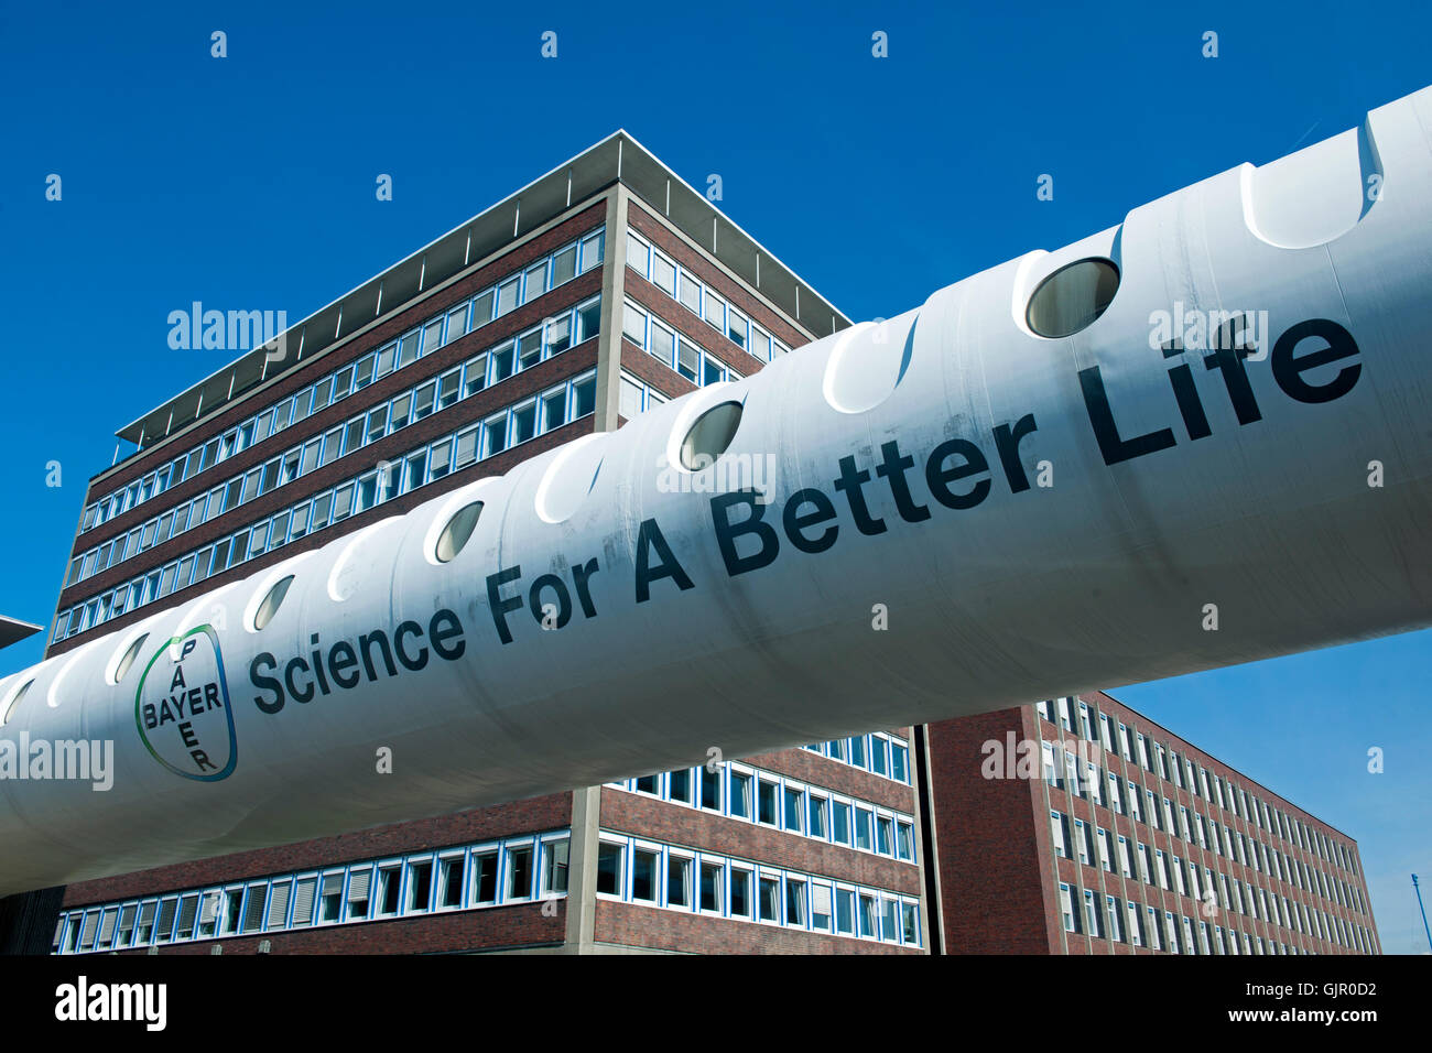
<svg viewBox="0 0 1432 1053"><path fill-rule="evenodd" d="M1157 907L1137 904L1133 900L1120 900L1116 895L1104 895L1104 910L1100 910L1100 894L1093 888L1083 890L1083 907L1075 908L1077 890L1060 883L1060 914L1065 933L1090 936L1097 940L1111 940L1131 947L1148 947L1156 951L1171 954L1303 954L1297 944L1280 943L1272 937L1264 938L1237 928L1224 928L1219 924L1199 918L1194 921L1187 914L1174 917L1170 910L1160 911ZM1163 918L1160 921L1160 914ZM1356 927L1359 941L1356 946L1365 954L1375 954L1368 940L1368 933L1360 925ZM1194 937L1197 934L1197 938Z"/></svg>

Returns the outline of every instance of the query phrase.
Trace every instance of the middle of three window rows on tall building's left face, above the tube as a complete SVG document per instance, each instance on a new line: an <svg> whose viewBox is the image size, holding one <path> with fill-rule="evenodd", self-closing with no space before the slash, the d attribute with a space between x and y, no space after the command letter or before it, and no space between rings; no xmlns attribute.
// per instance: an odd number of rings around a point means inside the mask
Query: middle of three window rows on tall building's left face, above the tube
<svg viewBox="0 0 1432 1053"><path fill-rule="evenodd" d="M504 381L514 372L531 368L537 362L594 337L600 319L601 297L547 318L527 332L473 355L467 362L455 365L441 377L425 380L387 403L359 413L347 424L339 424L326 434L314 436L282 456L251 468L248 474L235 476L208 494L199 494L192 501L186 501L178 509L169 509L162 516L136 526L127 534L76 556L70 563L66 585L74 585L116 566L122 560L132 559L189 527L208 523L275 487L301 479L309 471L325 467L339 457L405 428L408 424L445 410L461 398ZM368 355L362 361L367 362L371 358L372 355ZM371 370L371 365L367 368Z"/></svg>

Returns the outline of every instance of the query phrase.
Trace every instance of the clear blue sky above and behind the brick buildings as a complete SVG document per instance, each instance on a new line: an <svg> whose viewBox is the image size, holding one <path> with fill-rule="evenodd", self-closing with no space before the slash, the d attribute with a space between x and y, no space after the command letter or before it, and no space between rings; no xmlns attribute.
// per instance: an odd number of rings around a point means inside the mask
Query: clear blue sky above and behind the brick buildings
<svg viewBox="0 0 1432 1053"><path fill-rule="evenodd" d="M0 612L34 622L115 430L232 357L170 351L170 311L298 319L616 128L693 185L719 173L736 222L871 318L1432 82L1425 0L87 7L0 13ZM1426 950L1429 639L1117 695L1358 838L1386 950Z"/></svg>

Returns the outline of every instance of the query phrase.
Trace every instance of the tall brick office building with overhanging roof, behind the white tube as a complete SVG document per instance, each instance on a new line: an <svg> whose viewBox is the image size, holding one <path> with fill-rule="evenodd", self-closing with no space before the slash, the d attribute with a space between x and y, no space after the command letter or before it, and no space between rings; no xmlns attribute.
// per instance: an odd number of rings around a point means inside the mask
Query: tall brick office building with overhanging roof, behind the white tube
<svg viewBox="0 0 1432 1053"><path fill-rule="evenodd" d="M846 325L616 133L122 428L49 653ZM909 729L707 759L76 884L54 948L922 953Z"/></svg>

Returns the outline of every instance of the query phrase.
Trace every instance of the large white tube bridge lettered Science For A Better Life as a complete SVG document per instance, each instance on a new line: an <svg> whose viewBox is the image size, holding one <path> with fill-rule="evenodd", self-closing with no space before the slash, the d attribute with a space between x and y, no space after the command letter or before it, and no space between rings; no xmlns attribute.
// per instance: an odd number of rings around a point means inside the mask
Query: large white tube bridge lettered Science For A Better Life
<svg viewBox="0 0 1432 1053"><path fill-rule="evenodd" d="M115 744L107 792L0 779L0 893L1428 625L1429 129L1425 89L0 681L0 764ZM729 447L663 467L696 421Z"/></svg>

